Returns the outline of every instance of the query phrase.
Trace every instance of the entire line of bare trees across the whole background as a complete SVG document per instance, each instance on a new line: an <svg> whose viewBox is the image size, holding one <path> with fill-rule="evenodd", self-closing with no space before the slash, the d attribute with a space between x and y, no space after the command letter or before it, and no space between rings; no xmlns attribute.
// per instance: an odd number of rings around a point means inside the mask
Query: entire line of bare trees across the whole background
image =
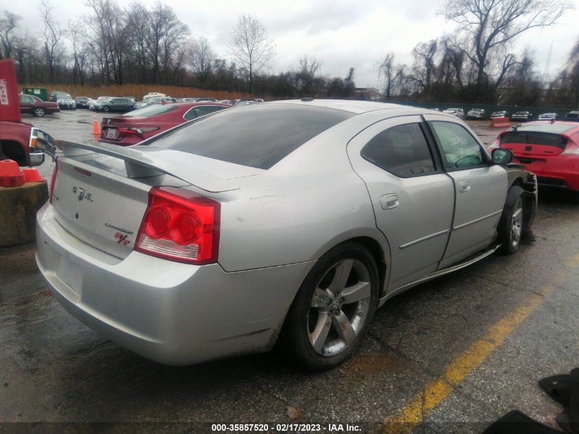
<svg viewBox="0 0 579 434"><path fill-rule="evenodd" d="M344 77L324 76L322 60L311 56L291 71L270 73L275 43L255 16L239 16L225 58L207 38L193 38L160 1L123 8L117 0L84 0L84 7L79 19L61 23L49 0L39 0L36 32L22 29L20 16L1 12L0 57L14 59L19 82L173 84L276 99L365 97L355 91L354 67ZM446 0L439 14L456 24L453 32L416 45L410 65L392 52L376 62L384 99L578 107L579 39L554 80L537 71L530 49L513 52L521 34L556 23L570 8L565 0Z"/></svg>

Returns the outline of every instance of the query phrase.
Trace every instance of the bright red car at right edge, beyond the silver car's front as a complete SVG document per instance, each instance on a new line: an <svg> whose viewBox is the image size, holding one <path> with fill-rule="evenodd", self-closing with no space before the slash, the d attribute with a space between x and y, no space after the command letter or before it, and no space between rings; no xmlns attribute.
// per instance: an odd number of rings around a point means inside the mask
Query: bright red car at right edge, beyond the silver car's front
<svg viewBox="0 0 579 434"><path fill-rule="evenodd" d="M510 128L489 147L510 149L513 162L537 175L539 185L579 191L579 125L539 121Z"/></svg>

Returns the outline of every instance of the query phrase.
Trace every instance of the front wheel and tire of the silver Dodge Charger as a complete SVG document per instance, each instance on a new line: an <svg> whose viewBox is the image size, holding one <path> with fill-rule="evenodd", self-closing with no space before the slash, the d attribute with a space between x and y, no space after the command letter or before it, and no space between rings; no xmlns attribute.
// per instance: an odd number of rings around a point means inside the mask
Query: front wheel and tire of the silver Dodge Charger
<svg viewBox="0 0 579 434"><path fill-rule="evenodd" d="M497 226L497 233L502 254L514 254L521 246L521 234L523 232L523 189L519 186L511 186L506 194L503 213Z"/></svg>

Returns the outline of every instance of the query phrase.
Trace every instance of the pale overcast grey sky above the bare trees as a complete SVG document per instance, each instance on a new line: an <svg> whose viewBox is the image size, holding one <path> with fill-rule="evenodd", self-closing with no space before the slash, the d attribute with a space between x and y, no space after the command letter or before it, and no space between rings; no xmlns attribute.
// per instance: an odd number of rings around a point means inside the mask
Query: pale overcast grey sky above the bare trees
<svg viewBox="0 0 579 434"><path fill-rule="evenodd" d="M130 1L121 0L121 5ZM151 6L154 0L144 0ZM454 24L436 15L439 0L271 0L165 1L189 25L191 36L208 38L213 50L228 58L230 31L239 15L250 13L264 23L276 45L272 71L294 69L304 55L322 61L323 75L345 77L356 68L358 87L382 88L375 64L393 51L395 62L410 65L410 51L420 42L452 32ZM519 37L513 52L534 50L537 69L543 73L552 43L549 73L553 76L567 60L579 36L579 0L558 25L531 29ZM62 23L77 19L87 10L81 0L52 0L53 12ZM23 17L23 26L38 28L36 0L0 0L0 10L8 9Z"/></svg>

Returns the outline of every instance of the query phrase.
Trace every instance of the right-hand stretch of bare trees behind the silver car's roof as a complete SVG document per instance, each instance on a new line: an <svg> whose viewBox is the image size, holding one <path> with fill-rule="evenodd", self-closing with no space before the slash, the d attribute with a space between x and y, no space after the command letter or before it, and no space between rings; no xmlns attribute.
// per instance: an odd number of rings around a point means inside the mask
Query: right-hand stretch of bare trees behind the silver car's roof
<svg viewBox="0 0 579 434"><path fill-rule="evenodd" d="M531 49L513 52L518 36L571 8L555 0L447 0L439 14L456 23L454 32L416 45L410 65L393 53L378 62L384 97L579 108L579 38L554 79L538 71Z"/></svg>

